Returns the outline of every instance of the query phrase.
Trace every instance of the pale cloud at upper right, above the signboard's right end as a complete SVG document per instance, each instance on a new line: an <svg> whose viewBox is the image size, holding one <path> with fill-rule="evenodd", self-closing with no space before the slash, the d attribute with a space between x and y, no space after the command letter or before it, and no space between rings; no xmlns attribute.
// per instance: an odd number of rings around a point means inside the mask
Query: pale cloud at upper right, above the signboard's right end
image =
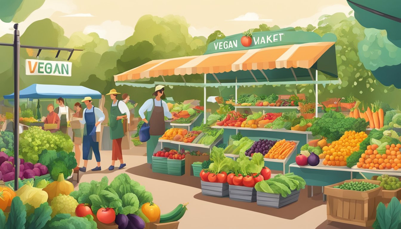
<svg viewBox="0 0 401 229"><path fill-rule="evenodd" d="M352 10L351 7L349 6L345 6L345 5L332 5L332 6L326 6L324 8L322 8L318 13L307 17L307 18L301 18L299 20L296 20L294 23L288 25L291 27L296 27L296 26L307 26L308 24L312 24L314 26L318 25L319 22L319 18L322 15L325 14L335 14L338 12L343 12L346 16L348 16L348 13ZM350 14L352 16L354 16L354 12L352 12L352 14Z"/></svg>

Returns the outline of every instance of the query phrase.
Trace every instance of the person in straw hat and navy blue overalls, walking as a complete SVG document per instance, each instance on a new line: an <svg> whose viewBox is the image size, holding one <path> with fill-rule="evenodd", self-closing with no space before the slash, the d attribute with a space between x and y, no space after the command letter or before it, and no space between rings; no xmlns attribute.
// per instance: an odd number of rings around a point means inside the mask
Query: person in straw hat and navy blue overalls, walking
<svg viewBox="0 0 401 229"><path fill-rule="evenodd" d="M89 151L92 148L93 153L95 154L97 166L92 169L92 171L99 171L101 170L100 167L100 152L99 152L99 142L97 142L96 139L96 131L97 129L100 130L100 128L97 128L101 122L104 120L104 113L97 107L94 107L92 105L92 98L91 97L85 97L85 99L82 100L83 103L85 103L86 107L83 110L83 117L81 124L84 124L83 128L83 141L82 141L82 158L83 158L83 167L79 168L79 171L81 172L86 172L86 167L88 165L88 156L89 156ZM100 127L100 126L99 126Z"/></svg>

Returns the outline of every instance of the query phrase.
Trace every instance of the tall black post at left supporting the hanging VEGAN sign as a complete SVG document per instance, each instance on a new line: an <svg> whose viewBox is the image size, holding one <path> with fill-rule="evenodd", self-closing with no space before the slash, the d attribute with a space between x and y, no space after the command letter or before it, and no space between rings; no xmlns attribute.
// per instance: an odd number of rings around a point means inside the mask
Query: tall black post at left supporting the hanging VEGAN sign
<svg viewBox="0 0 401 229"><path fill-rule="evenodd" d="M18 24L14 24L14 190L18 190L18 177L20 174L20 160L18 146L20 138L20 31Z"/></svg>

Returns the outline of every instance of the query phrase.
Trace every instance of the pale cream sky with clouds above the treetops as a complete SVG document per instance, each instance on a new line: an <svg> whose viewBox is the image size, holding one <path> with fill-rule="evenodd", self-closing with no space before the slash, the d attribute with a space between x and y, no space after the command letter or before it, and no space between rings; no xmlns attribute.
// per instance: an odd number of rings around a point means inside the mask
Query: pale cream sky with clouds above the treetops
<svg viewBox="0 0 401 229"><path fill-rule="evenodd" d="M351 10L346 0L46 0L19 28L24 32L32 22L50 18L64 28L66 36L76 31L97 32L113 45L131 36L136 22L145 14L184 16L192 36L207 37L215 30L227 36L262 23L282 28L316 25L323 14L348 15ZM12 33L13 24L0 21L0 36Z"/></svg>

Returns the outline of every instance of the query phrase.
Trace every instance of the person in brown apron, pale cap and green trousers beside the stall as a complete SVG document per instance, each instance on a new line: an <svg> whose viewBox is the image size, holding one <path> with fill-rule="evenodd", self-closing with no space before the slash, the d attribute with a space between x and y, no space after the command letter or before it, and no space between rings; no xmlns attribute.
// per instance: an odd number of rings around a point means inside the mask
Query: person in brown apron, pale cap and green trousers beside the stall
<svg viewBox="0 0 401 229"><path fill-rule="evenodd" d="M164 134L164 132L166 132L164 116L167 118L172 117L170 111L168 110L167 103L162 100L166 98L164 86L157 85L153 96L155 97L154 99L146 100L139 109L139 115L141 116L142 120L150 125L150 139L148 142L146 142L146 156L149 164L152 164L153 152L156 149L159 138ZM145 111L148 111L148 119L145 118Z"/></svg>

